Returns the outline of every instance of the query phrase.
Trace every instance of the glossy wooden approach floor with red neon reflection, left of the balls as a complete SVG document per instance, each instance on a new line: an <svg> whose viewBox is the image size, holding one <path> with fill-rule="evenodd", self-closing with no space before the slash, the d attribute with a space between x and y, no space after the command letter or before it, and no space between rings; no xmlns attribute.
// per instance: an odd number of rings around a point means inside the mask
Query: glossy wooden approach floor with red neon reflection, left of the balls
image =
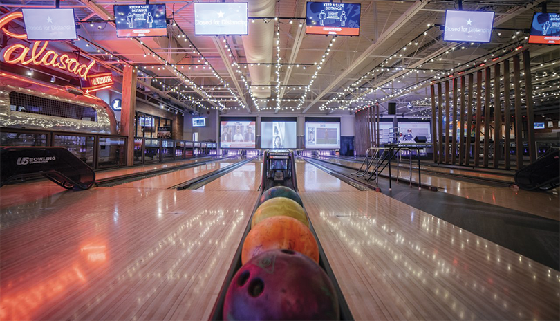
<svg viewBox="0 0 560 321"><path fill-rule="evenodd" d="M0 320L203 320L258 192L94 188L0 233ZM49 203L50 202L50 203Z"/></svg>

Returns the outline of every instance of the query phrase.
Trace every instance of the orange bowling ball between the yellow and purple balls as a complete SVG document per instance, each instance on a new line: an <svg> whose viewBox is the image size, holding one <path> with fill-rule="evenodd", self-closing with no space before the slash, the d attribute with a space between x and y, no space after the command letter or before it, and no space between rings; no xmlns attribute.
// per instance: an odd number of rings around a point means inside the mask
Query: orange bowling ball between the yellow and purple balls
<svg viewBox="0 0 560 321"><path fill-rule="evenodd" d="M319 262L319 246L304 225L292 217L269 217L256 224L248 233L241 250L241 263L268 250L295 250Z"/></svg>

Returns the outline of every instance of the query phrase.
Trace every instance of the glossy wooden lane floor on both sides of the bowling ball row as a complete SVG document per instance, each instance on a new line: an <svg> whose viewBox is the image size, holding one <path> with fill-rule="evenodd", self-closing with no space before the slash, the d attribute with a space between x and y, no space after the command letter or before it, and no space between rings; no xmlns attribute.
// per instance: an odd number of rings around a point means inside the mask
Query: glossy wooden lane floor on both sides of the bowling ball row
<svg viewBox="0 0 560 321"><path fill-rule="evenodd" d="M82 192L2 187L0 320L209 318L261 163L198 190L169 187L227 164ZM355 319L560 319L558 270L309 163L297 179Z"/></svg>

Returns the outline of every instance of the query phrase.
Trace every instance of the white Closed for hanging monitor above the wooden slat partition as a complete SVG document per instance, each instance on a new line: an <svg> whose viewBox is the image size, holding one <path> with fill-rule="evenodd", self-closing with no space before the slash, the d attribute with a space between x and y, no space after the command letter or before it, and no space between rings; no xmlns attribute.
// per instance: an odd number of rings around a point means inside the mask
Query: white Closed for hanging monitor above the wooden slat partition
<svg viewBox="0 0 560 321"><path fill-rule="evenodd" d="M489 42L493 25L493 11L447 10L443 40L446 42Z"/></svg>

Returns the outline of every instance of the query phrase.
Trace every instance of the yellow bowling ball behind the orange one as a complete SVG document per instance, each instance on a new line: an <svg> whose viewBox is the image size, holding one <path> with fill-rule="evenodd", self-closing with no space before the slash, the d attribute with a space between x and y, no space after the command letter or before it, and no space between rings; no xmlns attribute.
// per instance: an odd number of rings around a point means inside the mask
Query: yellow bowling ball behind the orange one
<svg viewBox="0 0 560 321"><path fill-rule="evenodd" d="M256 209L251 221L251 228L264 219L279 215L293 217L301 223L304 223L305 226L309 227L306 211L301 207L301 205L286 197L274 197L274 199L265 201L261 204L261 206L259 206L259 208Z"/></svg>

